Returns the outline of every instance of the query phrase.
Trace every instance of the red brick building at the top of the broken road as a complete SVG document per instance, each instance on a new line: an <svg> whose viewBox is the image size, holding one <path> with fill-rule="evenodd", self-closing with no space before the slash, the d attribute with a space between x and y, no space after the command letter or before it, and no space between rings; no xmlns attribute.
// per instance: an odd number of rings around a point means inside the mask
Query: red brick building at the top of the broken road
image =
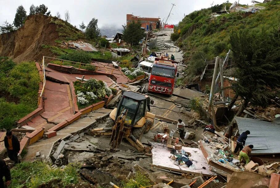
<svg viewBox="0 0 280 188"><path fill-rule="evenodd" d="M131 22L138 22L141 23L141 27L147 28L147 25L152 25L152 30L158 28L160 26L160 18L143 18L139 16L134 16L132 14L126 14L126 25L129 25Z"/></svg>

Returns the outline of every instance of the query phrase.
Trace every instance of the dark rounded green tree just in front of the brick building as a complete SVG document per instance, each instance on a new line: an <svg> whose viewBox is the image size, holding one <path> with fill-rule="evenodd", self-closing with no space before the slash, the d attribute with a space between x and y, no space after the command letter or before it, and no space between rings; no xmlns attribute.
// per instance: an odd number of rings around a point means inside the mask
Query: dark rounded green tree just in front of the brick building
<svg viewBox="0 0 280 188"><path fill-rule="evenodd" d="M136 46L145 37L144 30L141 29L140 22L132 22L123 30L123 40L131 46Z"/></svg>

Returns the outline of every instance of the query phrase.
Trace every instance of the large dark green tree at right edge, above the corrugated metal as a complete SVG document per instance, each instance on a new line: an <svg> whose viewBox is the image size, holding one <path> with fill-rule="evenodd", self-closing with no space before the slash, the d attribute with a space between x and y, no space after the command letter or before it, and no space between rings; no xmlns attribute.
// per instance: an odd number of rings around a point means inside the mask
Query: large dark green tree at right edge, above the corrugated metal
<svg viewBox="0 0 280 188"><path fill-rule="evenodd" d="M244 108L249 102L265 107L271 100L279 98L279 32L262 31L256 34L240 31L231 34L230 44L237 69L235 78L238 79L232 88L244 99Z"/></svg>

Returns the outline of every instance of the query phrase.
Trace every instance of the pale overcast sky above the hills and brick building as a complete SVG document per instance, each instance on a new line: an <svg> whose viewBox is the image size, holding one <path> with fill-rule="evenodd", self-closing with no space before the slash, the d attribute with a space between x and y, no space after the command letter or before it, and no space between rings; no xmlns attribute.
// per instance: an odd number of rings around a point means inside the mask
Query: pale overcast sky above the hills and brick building
<svg viewBox="0 0 280 188"><path fill-rule="evenodd" d="M78 26L82 21L87 25L92 18L98 19L98 26L116 26L126 23L126 14L133 14L141 17L152 17L166 20L171 9L171 3L175 3L168 24L177 24L184 17L194 10L208 8L212 2L221 4L225 0L0 0L0 25L4 21L12 23L18 6L23 5L27 15L31 4L39 6L44 4L55 16L60 12L64 19L65 10L69 10L70 23ZM229 2L234 2L230 0ZM240 4L252 4L251 0L240 0Z"/></svg>

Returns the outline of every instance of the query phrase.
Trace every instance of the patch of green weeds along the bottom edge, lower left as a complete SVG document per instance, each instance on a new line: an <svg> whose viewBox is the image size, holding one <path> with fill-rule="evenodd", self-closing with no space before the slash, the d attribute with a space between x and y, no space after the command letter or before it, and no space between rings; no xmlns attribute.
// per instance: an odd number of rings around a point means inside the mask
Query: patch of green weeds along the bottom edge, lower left
<svg viewBox="0 0 280 188"><path fill-rule="evenodd" d="M60 169L45 162L22 162L11 169L10 187L69 187L79 182L79 168L75 164Z"/></svg>

